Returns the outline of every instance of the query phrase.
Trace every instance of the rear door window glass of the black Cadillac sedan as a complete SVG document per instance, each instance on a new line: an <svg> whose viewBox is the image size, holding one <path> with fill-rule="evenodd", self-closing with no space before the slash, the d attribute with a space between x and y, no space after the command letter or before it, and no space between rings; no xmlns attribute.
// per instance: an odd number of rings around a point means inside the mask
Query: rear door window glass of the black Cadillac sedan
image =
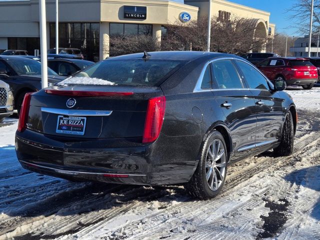
<svg viewBox="0 0 320 240"><path fill-rule="evenodd" d="M231 60L213 61L212 70L217 88L243 88L240 76Z"/></svg>

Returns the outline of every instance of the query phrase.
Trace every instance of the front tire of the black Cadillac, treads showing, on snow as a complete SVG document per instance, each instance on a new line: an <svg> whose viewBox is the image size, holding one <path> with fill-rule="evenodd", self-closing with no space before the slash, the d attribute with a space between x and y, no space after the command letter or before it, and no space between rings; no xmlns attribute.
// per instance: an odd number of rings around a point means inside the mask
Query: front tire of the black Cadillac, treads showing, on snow
<svg viewBox="0 0 320 240"><path fill-rule="evenodd" d="M288 156L293 152L293 138L294 138L294 129L293 129L293 119L292 114L288 111L285 121L283 123L282 135L280 144L273 148L274 156Z"/></svg>

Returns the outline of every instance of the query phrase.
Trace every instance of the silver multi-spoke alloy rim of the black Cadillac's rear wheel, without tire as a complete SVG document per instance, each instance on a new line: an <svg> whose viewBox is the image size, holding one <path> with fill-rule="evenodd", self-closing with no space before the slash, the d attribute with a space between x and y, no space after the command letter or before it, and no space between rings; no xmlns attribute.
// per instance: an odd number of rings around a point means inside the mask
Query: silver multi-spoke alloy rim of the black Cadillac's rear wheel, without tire
<svg viewBox="0 0 320 240"><path fill-rule="evenodd" d="M212 191L219 189L225 177L226 151L219 139L214 139L206 152L205 178Z"/></svg>

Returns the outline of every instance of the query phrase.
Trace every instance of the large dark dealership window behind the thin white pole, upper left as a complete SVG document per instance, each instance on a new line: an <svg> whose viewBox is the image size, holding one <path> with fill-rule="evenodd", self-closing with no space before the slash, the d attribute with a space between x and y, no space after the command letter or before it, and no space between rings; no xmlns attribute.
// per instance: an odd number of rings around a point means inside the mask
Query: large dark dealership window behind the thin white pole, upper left
<svg viewBox="0 0 320 240"><path fill-rule="evenodd" d="M50 23L50 48L55 47L55 23ZM99 60L99 23L59 23L59 47L81 50L84 59Z"/></svg>

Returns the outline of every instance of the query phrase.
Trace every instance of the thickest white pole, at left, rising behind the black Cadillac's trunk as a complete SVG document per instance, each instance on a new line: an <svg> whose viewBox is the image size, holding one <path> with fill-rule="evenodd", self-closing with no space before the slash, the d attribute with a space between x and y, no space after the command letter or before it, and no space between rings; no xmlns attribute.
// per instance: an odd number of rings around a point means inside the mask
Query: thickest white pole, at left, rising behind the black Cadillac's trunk
<svg viewBox="0 0 320 240"><path fill-rule="evenodd" d="M48 67L46 58L46 21L45 0L39 0L40 50L41 50L41 87L48 86Z"/></svg>

